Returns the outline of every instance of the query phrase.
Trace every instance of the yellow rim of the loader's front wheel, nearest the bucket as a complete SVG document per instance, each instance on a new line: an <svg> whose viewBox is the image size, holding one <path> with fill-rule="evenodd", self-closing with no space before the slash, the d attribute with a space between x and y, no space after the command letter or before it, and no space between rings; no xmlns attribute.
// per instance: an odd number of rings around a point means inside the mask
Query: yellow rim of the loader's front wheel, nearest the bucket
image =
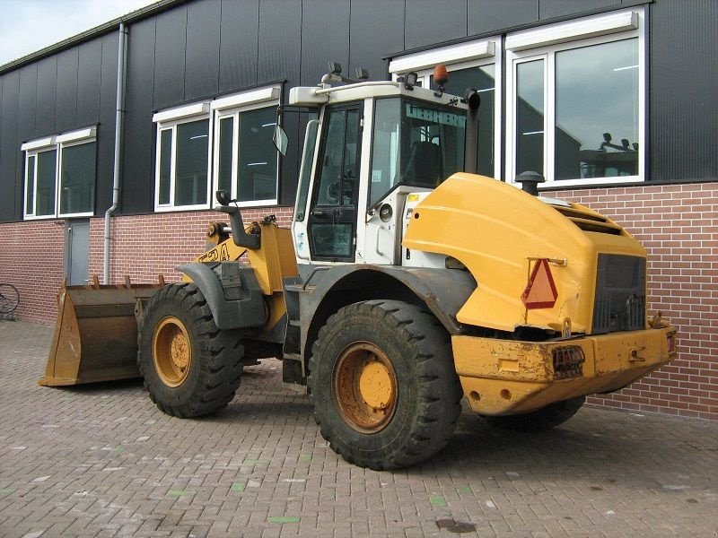
<svg viewBox="0 0 718 538"><path fill-rule="evenodd" d="M192 365L192 345L187 327L179 318L162 318L152 336L154 369L166 386L184 383Z"/></svg>

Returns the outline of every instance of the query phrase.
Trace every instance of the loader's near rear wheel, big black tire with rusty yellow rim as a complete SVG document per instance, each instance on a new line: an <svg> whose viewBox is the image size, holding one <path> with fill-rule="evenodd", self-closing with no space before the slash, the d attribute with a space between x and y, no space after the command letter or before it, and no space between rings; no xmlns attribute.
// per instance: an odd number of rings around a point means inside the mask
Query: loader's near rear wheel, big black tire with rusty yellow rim
<svg viewBox="0 0 718 538"><path fill-rule="evenodd" d="M405 467L451 438L462 395L451 341L421 308L371 300L340 309L320 330L309 368L314 419L351 464Z"/></svg>

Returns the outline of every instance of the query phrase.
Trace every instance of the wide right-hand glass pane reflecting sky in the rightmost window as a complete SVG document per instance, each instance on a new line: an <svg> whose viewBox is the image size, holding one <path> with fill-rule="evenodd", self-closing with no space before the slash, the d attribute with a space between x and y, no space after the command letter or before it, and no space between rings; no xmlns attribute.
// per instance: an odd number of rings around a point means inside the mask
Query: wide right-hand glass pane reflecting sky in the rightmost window
<svg viewBox="0 0 718 538"><path fill-rule="evenodd" d="M556 179L638 175L638 40L556 53Z"/></svg>

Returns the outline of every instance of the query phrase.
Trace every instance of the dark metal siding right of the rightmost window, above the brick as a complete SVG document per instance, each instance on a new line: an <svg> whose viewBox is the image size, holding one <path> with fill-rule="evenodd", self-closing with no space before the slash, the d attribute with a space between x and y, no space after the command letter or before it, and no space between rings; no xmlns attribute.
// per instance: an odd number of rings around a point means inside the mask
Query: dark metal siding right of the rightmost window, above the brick
<svg viewBox="0 0 718 538"><path fill-rule="evenodd" d="M718 3L651 6L652 180L718 178Z"/></svg>

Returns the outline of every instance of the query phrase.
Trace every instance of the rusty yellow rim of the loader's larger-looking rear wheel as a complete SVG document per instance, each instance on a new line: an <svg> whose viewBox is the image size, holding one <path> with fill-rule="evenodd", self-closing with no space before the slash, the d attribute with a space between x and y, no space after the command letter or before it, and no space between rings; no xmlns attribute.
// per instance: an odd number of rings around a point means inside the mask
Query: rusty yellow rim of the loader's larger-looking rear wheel
<svg viewBox="0 0 718 538"><path fill-rule="evenodd" d="M333 393L342 420L354 430L383 430L394 416L398 398L389 357L372 343L350 344L337 360Z"/></svg>

